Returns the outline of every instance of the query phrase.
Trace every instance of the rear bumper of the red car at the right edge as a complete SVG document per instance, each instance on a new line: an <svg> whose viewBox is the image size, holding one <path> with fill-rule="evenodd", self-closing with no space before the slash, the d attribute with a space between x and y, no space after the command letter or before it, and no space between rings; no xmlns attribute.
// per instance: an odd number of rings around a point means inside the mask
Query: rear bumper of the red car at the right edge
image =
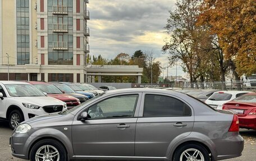
<svg viewBox="0 0 256 161"><path fill-rule="evenodd" d="M240 128L250 128L256 130L256 115L248 115L238 118Z"/></svg>

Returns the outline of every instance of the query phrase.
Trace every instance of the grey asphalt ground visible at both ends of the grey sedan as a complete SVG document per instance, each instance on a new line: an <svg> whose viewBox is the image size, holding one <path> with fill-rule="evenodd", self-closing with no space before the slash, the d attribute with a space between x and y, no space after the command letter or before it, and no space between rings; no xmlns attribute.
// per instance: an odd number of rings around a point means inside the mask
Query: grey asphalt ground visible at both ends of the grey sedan
<svg viewBox="0 0 256 161"><path fill-rule="evenodd" d="M23 160L12 157L9 146L9 137L11 136L12 130L8 127L7 122L0 121L0 160ZM239 158L227 159L227 161L255 161L256 158L256 131L240 129L241 136L244 137L245 146L243 155ZM232 147L230 147L232 148Z"/></svg>

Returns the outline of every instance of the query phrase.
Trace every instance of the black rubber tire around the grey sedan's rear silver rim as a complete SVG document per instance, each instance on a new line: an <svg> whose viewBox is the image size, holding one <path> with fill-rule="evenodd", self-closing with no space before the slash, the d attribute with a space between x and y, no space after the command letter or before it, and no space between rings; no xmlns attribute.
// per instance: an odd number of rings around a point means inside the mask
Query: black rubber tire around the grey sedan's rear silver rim
<svg viewBox="0 0 256 161"><path fill-rule="evenodd" d="M185 155L182 154L184 151L189 150L189 149L191 149L191 151L188 151L188 153L190 155L186 154L186 156L185 156ZM193 154L194 154L193 150L194 149L200 151L198 153L198 155L196 156L197 159L201 158L201 159L204 159L204 161L210 161L211 160L208 151L202 145L199 145L199 144L185 144L185 145L180 146L178 149L176 149L174 157L173 157L173 161L180 161L180 159L182 159L182 161L183 161L183 160L187 160L186 157L188 157L188 156L193 157Z"/></svg>

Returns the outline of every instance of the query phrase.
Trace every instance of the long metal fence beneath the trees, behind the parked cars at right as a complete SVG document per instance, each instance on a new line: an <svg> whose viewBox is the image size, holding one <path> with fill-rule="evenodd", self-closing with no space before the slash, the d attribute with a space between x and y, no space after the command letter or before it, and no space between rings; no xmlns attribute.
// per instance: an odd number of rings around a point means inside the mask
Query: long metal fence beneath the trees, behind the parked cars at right
<svg viewBox="0 0 256 161"><path fill-rule="evenodd" d="M220 89L220 90L256 90L256 81L211 81L211 82L174 82L169 86L175 88L192 89Z"/></svg>

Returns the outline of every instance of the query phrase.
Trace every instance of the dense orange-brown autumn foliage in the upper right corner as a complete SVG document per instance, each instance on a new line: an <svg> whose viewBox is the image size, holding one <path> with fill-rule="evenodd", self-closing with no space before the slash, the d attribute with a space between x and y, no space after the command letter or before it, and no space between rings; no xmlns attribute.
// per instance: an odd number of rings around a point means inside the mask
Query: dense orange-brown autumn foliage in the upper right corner
<svg viewBox="0 0 256 161"><path fill-rule="evenodd" d="M204 0L201 11L200 23L218 36L235 77L256 73L256 1Z"/></svg>

